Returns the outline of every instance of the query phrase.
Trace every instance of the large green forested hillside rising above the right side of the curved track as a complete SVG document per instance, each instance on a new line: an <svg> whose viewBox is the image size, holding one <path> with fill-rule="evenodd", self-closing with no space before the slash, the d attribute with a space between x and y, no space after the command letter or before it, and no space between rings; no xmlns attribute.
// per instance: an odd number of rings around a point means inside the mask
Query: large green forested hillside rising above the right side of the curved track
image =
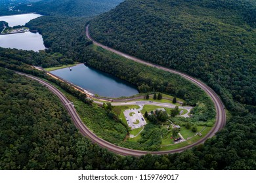
<svg viewBox="0 0 256 183"><path fill-rule="evenodd" d="M256 105L255 13L251 0L127 0L90 30L96 41L202 79L244 115Z"/></svg>

